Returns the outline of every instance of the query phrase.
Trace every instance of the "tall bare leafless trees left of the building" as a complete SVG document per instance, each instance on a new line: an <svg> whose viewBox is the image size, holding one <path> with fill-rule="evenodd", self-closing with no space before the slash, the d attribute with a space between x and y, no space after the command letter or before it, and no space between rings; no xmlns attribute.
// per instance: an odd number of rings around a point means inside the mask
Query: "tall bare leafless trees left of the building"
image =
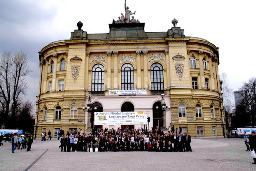
<svg viewBox="0 0 256 171"><path fill-rule="evenodd" d="M20 105L18 101L22 101L26 95L28 86L25 77L31 70L23 52L14 56L10 52L3 52L0 57L0 124L1 127L11 128Z"/></svg>

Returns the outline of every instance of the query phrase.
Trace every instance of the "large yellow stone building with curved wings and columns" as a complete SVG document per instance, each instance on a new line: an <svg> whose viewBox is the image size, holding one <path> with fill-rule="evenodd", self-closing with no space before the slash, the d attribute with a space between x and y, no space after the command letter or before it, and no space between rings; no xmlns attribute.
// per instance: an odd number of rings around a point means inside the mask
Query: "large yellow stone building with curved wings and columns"
<svg viewBox="0 0 256 171"><path fill-rule="evenodd" d="M150 128L174 125L194 137L223 135L218 47L173 25L145 32L144 23L113 21L108 33L88 34L79 22L70 39L42 48L37 136L48 129L56 137L59 129L102 127L94 125L96 111L146 111Z"/></svg>

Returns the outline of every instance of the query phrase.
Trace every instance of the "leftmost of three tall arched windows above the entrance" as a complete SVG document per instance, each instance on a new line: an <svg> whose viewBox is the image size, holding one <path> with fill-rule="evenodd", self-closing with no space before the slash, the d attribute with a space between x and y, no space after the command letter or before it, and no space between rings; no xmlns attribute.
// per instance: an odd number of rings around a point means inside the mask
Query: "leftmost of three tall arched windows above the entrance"
<svg viewBox="0 0 256 171"><path fill-rule="evenodd" d="M96 64L92 68L92 91L104 90L104 67Z"/></svg>

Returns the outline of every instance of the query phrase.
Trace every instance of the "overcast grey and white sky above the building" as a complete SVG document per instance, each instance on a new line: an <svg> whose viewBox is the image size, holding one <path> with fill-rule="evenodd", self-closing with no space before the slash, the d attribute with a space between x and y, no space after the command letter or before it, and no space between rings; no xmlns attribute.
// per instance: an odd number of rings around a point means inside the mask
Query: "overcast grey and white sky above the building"
<svg viewBox="0 0 256 171"><path fill-rule="evenodd" d="M204 38L219 47L219 74L236 91L256 77L256 1L126 0L145 23L146 32L166 32L173 18L185 36ZM88 34L108 33L112 19L124 13L124 0L0 0L0 53L23 51L33 72L27 98L35 103L39 84L38 52L49 43L70 39L83 22Z"/></svg>

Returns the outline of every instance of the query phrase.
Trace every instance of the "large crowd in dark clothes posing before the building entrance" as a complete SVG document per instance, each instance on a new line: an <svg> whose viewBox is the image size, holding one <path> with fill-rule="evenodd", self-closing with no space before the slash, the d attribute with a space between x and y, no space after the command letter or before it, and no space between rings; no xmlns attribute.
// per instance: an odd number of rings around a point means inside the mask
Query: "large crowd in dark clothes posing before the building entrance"
<svg viewBox="0 0 256 171"><path fill-rule="evenodd" d="M176 130L177 131L177 130ZM73 133L59 131L61 151L162 151L192 152L191 136L188 133L175 133L152 128L151 131L138 129L93 129L92 133L83 133L82 129Z"/></svg>

